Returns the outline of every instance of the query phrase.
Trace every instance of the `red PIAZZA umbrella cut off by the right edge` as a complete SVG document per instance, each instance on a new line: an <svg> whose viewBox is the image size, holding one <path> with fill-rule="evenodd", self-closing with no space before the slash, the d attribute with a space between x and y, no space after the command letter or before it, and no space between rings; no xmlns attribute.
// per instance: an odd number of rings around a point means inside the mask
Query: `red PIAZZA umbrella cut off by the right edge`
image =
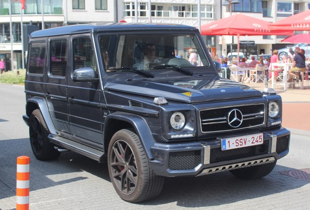
<svg viewBox="0 0 310 210"><path fill-rule="evenodd" d="M310 10L276 21L270 24L269 29L310 31Z"/></svg>

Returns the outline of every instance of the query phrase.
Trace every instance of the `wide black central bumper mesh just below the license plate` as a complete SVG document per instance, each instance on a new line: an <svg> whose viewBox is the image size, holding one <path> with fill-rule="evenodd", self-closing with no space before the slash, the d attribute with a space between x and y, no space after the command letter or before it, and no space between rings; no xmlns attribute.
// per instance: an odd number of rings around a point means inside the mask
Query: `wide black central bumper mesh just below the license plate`
<svg viewBox="0 0 310 210"><path fill-rule="evenodd" d="M214 148L214 149L211 149L210 163L216 163L216 162L233 160L233 159L238 159L238 158L252 157L252 156L267 154L268 145L269 145L269 140L266 140L264 141L263 144L260 144L260 145L243 147L243 148L232 149L232 150L222 151L221 148Z"/></svg>

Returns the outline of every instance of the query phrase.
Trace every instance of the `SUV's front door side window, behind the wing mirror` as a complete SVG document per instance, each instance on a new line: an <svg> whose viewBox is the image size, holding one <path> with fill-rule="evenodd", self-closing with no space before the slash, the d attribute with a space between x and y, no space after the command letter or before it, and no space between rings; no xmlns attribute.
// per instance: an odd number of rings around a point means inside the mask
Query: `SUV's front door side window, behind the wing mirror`
<svg viewBox="0 0 310 210"><path fill-rule="evenodd" d="M89 37L75 38L73 40L74 69L92 67L96 71L94 48Z"/></svg>

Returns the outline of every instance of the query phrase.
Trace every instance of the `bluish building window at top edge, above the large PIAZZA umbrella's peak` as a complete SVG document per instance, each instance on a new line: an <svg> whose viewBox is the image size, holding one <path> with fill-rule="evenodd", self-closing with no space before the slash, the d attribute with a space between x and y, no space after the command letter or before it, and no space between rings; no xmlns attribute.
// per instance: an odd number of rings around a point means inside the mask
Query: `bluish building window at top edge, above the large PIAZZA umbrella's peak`
<svg viewBox="0 0 310 210"><path fill-rule="evenodd" d="M234 12L262 12L262 0L239 0L240 3L232 4Z"/></svg>

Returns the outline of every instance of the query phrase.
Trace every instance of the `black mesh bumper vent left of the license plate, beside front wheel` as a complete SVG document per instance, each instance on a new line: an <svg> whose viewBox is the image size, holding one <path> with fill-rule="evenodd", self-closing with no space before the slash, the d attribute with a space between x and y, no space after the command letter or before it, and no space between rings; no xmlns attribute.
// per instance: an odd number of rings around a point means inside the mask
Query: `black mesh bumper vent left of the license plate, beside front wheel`
<svg viewBox="0 0 310 210"><path fill-rule="evenodd" d="M169 154L169 169L187 170L194 169L201 159L200 150L173 152Z"/></svg>

